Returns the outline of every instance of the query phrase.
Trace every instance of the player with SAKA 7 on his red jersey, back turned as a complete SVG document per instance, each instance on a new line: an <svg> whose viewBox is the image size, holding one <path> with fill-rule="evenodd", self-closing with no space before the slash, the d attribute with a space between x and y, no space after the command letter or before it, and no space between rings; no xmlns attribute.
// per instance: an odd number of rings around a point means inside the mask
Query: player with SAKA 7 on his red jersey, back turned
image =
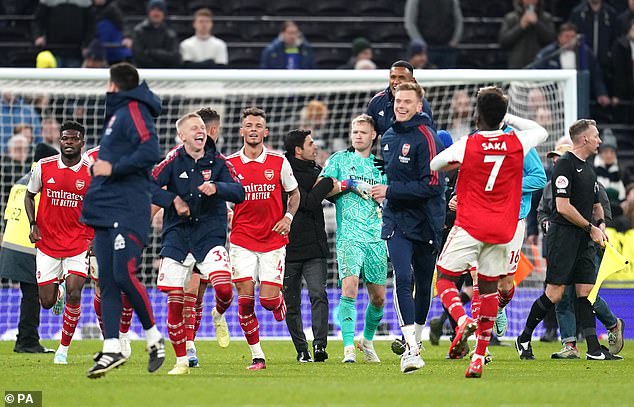
<svg viewBox="0 0 634 407"><path fill-rule="evenodd" d="M463 137L431 162L432 170L460 166L456 221L438 259L438 295L458 322L449 354L463 352L467 338L478 329L476 350L465 377L481 377L486 347L497 315L497 284L507 269L507 243L517 230L522 194L524 156L548 133L531 120L506 114L508 98L495 87L478 91L477 133ZM506 117L505 117L506 114ZM504 133L505 120L516 129ZM478 320L469 318L456 288L460 275L477 265L481 306Z"/></svg>

